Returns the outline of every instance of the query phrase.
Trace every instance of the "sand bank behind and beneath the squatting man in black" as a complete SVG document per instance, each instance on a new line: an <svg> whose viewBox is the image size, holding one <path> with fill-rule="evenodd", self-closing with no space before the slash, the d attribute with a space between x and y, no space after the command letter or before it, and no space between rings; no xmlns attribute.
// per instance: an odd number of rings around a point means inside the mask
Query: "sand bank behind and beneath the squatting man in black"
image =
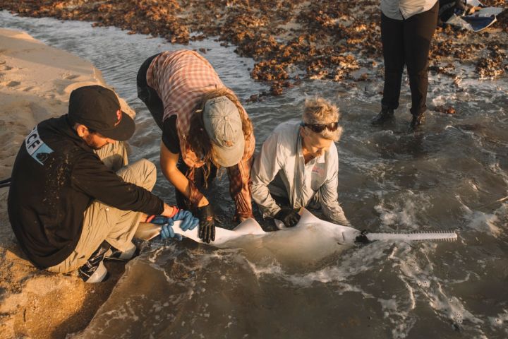
<svg viewBox="0 0 508 339"><path fill-rule="evenodd" d="M26 134L38 122L67 113L68 96L83 85L105 85L92 64L48 47L25 32L0 29L0 177L11 176ZM134 114L124 100L124 112ZM64 338L87 326L123 272L97 285L34 268L16 245L0 189L0 338Z"/></svg>

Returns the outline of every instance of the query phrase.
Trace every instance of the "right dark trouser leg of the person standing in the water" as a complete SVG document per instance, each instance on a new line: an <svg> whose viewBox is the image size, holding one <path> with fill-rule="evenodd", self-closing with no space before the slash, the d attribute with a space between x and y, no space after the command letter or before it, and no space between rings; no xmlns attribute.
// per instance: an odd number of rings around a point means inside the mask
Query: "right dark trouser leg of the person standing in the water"
<svg viewBox="0 0 508 339"><path fill-rule="evenodd" d="M411 114L419 117L427 109L428 54L436 25L439 5L411 16L404 22L406 65L411 88ZM423 122L423 121L422 121Z"/></svg>

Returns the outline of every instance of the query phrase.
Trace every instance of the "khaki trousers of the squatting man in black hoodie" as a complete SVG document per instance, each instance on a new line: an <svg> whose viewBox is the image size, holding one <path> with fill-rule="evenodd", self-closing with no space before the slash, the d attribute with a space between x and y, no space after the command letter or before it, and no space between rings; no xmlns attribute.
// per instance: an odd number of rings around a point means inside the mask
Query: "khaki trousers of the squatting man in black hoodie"
<svg viewBox="0 0 508 339"><path fill-rule="evenodd" d="M152 162L142 159L127 165L124 143L116 142L96 151L107 167L114 169L125 182L131 182L152 191L157 179L157 169ZM75 249L64 261L47 268L52 272L67 273L83 266L99 245L106 240L120 251L131 246L141 212L119 210L100 201L94 201L83 218L83 231Z"/></svg>

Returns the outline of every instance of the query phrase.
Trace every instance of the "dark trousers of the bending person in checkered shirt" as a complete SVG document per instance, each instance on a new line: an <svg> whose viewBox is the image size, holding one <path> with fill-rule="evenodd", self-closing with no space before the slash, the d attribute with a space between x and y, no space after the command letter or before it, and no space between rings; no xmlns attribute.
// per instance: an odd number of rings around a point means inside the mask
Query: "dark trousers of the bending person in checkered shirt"
<svg viewBox="0 0 508 339"><path fill-rule="evenodd" d="M136 78L136 83L138 85L138 97L141 101L145 102L146 107L152 114L157 126L159 129L162 129L162 118L164 117L164 105L162 105L162 100L160 99L157 92L147 85L146 74L148 71L148 67L152 63L152 60L155 59L159 54L152 55L152 57L148 58L141 65L138 76Z"/></svg>

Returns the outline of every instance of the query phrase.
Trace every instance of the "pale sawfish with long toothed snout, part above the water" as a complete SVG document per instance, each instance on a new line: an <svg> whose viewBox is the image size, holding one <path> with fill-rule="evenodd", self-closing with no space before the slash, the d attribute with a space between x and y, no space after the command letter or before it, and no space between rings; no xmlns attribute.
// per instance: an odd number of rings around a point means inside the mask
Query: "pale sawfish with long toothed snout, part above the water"
<svg viewBox="0 0 508 339"><path fill-rule="evenodd" d="M373 242L375 240L382 241L424 241L424 240L445 240L454 241L457 239L456 232L410 232L410 233L369 233L356 230L353 227L337 225L332 222L321 220L306 208L299 211L301 218L294 227L284 227L282 222L276 222L279 231L277 237L291 236L291 234L302 234L308 232L313 234L319 232L331 237L337 244L354 244L355 242ZM278 220L276 220L278 221ZM194 230L182 231L179 228L181 221L175 221L173 229L176 233L183 237L192 239L195 242L202 242L198 235L198 227ZM135 237L140 239L152 239L159 235L161 225L140 223ZM281 233L284 232L284 233ZM253 218L248 218L241 222L234 230L226 230L224 228L215 227L215 240L211 244L217 247L230 246L234 242L244 237L269 237L274 232L265 232L259 223Z"/></svg>

